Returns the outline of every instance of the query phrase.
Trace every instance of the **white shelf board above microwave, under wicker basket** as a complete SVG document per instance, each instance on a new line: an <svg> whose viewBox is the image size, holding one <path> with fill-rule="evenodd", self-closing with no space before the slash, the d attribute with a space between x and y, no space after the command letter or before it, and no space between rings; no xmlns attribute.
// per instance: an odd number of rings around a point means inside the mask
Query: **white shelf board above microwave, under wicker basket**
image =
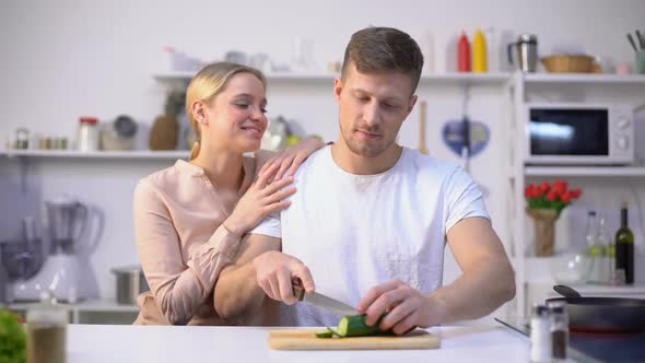
<svg viewBox="0 0 645 363"><path fill-rule="evenodd" d="M530 73L523 74L526 84L633 84L645 86L644 74Z"/></svg>

